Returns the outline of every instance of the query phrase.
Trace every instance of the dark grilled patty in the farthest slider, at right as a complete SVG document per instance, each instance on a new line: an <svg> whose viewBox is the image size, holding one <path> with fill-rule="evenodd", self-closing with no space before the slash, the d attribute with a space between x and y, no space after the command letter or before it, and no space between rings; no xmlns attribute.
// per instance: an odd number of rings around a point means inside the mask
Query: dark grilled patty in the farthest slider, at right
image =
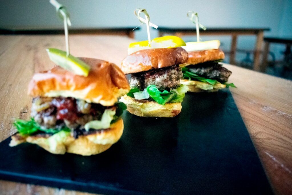
<svg viewBox="0 0 292 195"><path fill-rule="evenodd" d="M231 75L231 71L222 67L218 63L204 63L202 65L190 65L187 66L192 73L200 75L208 79L215 79L219 82L227 82L228 77Z"/></svg>

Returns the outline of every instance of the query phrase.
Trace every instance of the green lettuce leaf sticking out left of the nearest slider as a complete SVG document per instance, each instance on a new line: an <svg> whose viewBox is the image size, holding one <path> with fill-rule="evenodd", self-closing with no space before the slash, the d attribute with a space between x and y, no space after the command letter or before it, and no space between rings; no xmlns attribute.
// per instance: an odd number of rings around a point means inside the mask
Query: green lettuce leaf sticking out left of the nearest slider
<svg viewBox="0 0 292 195"><path fill-rule="evenodd" d="M16 119L14 121L13 125L16 127L16 129L18 130L18 133L20 135L30 135L30 134L33 134L37 131L42 131L45 133L52 133L52 134L58 133L62 130L70 132L70 129L66 126L62 126L60 128L56 128L56 129L42 128L37 122L34 121L33 118L31 118L30 121Z"/></svg>

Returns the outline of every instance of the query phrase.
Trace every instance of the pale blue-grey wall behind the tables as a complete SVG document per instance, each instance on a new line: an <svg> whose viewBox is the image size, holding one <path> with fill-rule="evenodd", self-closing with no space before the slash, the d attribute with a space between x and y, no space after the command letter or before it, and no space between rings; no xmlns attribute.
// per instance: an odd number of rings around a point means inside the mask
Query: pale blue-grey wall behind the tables
<svg viewBox="0 0 292 195"><path fill-rule="evenodd" d="M146 8L151 21L158 26L192 27L186 17L187 11L199 13L200 22L208 27L269 27L265 35L292 36L292 1L291 0L206 0L206 1L79 1L59 0L67 6L71 13L72 28L85 27L127 27L137 26L135 8ZM62 21L56 17L55 9L49 0L10 0L1 1L0 27L34 27L58 28ZM136 31L136 39L146 40L146 27ZM152 38L157 30L151 29ZM219 38L223 49L230 48L230 37L202 37L202 40ZM185 41L195 37L184 37ZM242 36L238 40L238 48L253 49L256 38ZM272 46L273 49L273 46ZM279 51L276 51L279 52ZM237 55L241 60L245 55ZM278 55L278 58L281 56Z"/></svg>

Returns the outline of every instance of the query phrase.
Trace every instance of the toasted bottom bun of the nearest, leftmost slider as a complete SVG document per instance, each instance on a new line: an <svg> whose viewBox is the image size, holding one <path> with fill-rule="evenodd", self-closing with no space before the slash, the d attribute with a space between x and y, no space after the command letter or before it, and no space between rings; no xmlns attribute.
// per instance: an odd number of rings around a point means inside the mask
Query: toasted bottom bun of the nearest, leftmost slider
<svg viewBox="0 0 292 195"><path fill-rule="evenodd" d="M106 151L116 143L123 134L124 123L120 119L110 126L109 129L95 131L88 135L80 135L77 139L71 135L62 140L51 144L48 139L51 137L49 134L41 134L34 136L22 137L20 134L11 136L9 146L16 146L24 142L37 144L53 154L74 153L82 156L90 156Z"/></svg>

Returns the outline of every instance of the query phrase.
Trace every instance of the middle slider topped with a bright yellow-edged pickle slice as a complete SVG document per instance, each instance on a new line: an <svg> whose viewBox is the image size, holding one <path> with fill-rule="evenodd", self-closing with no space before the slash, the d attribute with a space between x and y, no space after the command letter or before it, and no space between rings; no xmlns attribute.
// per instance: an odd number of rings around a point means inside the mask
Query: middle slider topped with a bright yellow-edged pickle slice
<svg viewBox="0 0 292 195"><path fill-rule="evenodd" d="M127 110L142 117L174 117L181 111L187 87L180 84L183 73L179 64L186 63L187 51L179 37L155 38L149 44L130 44L121 70L131 74L131 90L120 101Z"/></svg>

